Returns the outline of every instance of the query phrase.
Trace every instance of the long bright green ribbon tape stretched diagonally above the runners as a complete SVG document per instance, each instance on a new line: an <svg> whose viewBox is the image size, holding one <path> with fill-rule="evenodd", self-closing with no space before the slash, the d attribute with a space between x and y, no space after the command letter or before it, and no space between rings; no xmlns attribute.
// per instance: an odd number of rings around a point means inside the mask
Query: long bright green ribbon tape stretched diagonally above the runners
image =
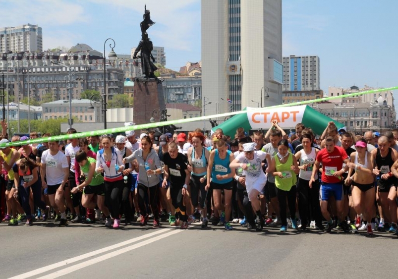
<svg viewBox="0 0 398 279"><path fill-rule="evenodd" d="M297 103L290 103L290 104L283 104L283 105L259 108L256 110L258 110L258 111L264 110L265 111L265 110L269 110L269 109L312 104L312 103L318 103L318 102L328 101L328 100L333 100L333 99L354 97L354 96L363 95L363 94L372 94L372 93L397 90L397 89L398 89L398 86L373 89L373 90L368 90L368 91L345 94L343 96L325 97L325 98L316 99L316 100L302 101L302 102L297 102ZM75 139L75 138L82 138L82 137L89 137L89 136L99 136L99 135L105 135L105 134L111 134L111 133L120 133L120 132L125 132L125 131L130 131L130 130L141 130L141 129L148 129L148 128L154 128L154 127L159 127L159 126L171 125L171 124L175 125L175 124L187 123L187 122L192 122L192 121L200 121L200 120L205 120L205 119L210 119L210 118L226 117L229 115L235 115L235 114L240 114L240 113L247 113L247 111L244 110L244 111L238 111L238 112L226 112L226 113L199 116L199 117L193 117L193 118L185 118L185 119L178 119L178 120L140 124L140 125L135 125L135 126L126 126L126 127L104 129L104 130L97 130L97 131L91 131L91 132L69 134L69 135L59 135L59 136L52 136L52 137L47 137L47 138L30 139L30 140L25 140L25 141L15 141L15 142L0 144L0 147L15 146L15 145L27 145L27 144L31 144L31 143L42 143L42 142L59 141L59 140L68 140L68 139Z"/></svg>

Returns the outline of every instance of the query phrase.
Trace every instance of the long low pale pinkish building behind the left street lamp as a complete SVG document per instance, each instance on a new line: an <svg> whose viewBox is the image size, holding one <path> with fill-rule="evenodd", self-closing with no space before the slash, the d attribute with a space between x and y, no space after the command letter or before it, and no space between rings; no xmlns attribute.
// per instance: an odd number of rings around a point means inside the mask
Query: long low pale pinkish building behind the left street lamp
<svg viewBox="0 0 398 279"><path fill-rule="evenodd" d="M69 100L45 103L42 107L44 120L70 117ZM72 118L82 122L104 122L102 104L90 100L72 100Z"/></svg>

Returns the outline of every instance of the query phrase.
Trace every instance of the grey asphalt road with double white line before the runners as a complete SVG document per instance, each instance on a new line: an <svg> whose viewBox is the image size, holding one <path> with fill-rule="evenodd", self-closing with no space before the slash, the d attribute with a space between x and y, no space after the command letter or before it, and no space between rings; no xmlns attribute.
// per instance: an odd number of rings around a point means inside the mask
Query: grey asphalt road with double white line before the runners
<svg viewBox="0 0 398 279"><path fill-rule="evenodd" d="M0 278L396 278L398 237L0 223Z"/></svg>

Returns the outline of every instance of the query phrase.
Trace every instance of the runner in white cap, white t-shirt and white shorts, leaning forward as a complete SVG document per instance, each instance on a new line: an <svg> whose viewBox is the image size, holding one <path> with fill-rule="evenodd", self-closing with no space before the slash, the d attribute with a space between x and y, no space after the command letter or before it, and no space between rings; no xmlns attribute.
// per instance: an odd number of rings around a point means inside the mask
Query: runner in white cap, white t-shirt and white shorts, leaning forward
<svg viewBox="0 0 398 279"><path fill-rule="evenodd" d="M245 185L248 198L256 213L256 230L262 230L264 226L264 218L260 210L259 195L267 183L261 164L267 160L268 166L271 164L271 156L263 151L257 151L257 143L243 144L243 153L239 154L229 165L231 168L241 167L245 175ZM239 180L239 176L235 175L235 180ZM253 225L253 224L251 224Z"/></svg>

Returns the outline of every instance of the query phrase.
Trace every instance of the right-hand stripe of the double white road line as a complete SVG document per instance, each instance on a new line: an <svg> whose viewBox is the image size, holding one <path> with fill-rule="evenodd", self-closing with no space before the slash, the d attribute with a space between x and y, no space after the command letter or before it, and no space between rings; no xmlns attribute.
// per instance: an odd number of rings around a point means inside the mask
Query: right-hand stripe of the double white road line
<svg viewBox="0 0 398 279"><path fill-rule="evenodd" d="M43 277L40 277L39 279L54 279L54 278L58 278L58 277L64 276L66 274L72 273L72 272L77 271L79 269L82 269L82 268L85 268L85 267L88 267L88 266L91 266L91 265L94 265L94 264L98 264L99 262L108 260L108 259L113 258L115 256L118 256L120 254L123 254L123 253L126 253L128 251L137 249L139 247L148 245L148 244L150 244L152 242L158 241L158 240L160 240L162 238L166 238L166 237L168 237L170 235L179 233L181 231L184 231L184 230L173 230L173 231L170 231L168 233L164 233L162 235L153 237L153 238L148 239L148 240L144 240L144 241L142 241L140 243L137 243L137 244L125 247L125 248L121 248L121 249L116 250L114 252L110 252L108 254L105 254L105 255L99 256L97 258L85 261L83 263L80 263L80 264L77 264L77 265L74 265L74 266L70 266L70 267L58 270L58 271L56 271L54 273L51 273L51 274L45 275Z"/></svg>

